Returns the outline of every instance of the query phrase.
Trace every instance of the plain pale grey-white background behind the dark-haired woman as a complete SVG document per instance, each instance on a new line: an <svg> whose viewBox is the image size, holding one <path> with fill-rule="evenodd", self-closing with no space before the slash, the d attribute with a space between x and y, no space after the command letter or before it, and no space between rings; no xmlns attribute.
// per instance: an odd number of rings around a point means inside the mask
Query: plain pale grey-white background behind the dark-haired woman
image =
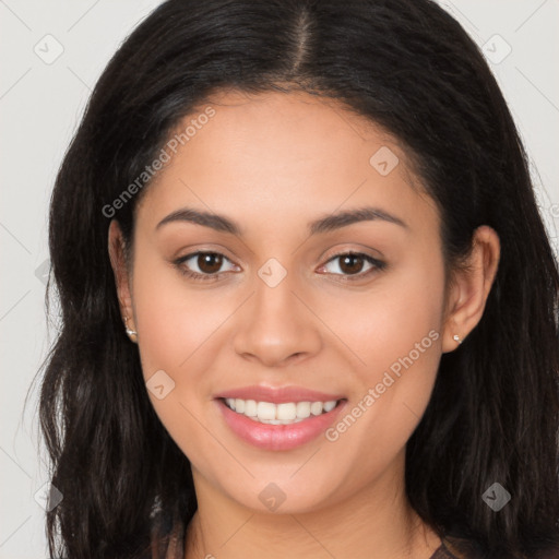
<svg viewBox="0 0 559 559"><path fill-rule="evenodd" d="M0 559L47 557L44 510L34 497L44 495L47 479L38 452L36 386L25 412L23 404L56 334L56 324L47 329L44 309L55 175L103 68L158 3L0 0ZM485 45L527 147L557 248L559 0L440 3Z"/></svg>

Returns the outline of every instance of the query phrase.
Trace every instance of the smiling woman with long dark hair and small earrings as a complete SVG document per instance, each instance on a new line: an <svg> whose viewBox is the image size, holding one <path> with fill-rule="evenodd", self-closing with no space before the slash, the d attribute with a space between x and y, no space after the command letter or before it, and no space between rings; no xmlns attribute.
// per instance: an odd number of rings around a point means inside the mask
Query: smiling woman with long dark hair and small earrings
<svg viewBox="0 0 559 559"><path fill-rule="evenodd" d="M163 3L50 252L53 557L558 556L557 263L437 4Z"/></svg>

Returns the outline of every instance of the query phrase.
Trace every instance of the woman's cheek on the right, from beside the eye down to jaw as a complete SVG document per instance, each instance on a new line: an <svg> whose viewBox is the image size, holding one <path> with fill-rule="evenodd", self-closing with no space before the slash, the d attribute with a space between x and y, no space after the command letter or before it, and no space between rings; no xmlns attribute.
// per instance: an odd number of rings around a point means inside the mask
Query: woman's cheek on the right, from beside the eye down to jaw
<svg viewBox="0 0 559 559"><path fill-rule="evenodd" d="M379 466L379 456L394 456L404 448L429 403L441 356L443 294L442 260L417 254L390 284L386 277L359 306L346 307L340 322L366 362L356 368L359 392L345 421L352 427L343 437L349 447L360 441L359 447L370 449L362 453L370 467Z"/></svg>

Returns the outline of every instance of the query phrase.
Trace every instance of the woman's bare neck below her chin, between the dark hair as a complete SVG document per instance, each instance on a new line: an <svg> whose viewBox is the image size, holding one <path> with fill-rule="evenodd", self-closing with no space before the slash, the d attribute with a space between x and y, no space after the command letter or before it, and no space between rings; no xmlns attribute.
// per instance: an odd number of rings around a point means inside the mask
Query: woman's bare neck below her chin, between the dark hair
<svg viewBox="0 0 559 559"><path fill-rule="evenodd" d="M193 469L198 511L186 559L429 559L440 538L409 506L393 473L311 512L282 514L242 507Z"/></svg>

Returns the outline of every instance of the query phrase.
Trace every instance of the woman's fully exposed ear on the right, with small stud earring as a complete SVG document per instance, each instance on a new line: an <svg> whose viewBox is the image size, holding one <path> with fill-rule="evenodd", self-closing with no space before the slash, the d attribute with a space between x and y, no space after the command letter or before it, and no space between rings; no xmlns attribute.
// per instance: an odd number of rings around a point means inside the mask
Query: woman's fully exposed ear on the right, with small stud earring
<svg viewBox="0 0 559 559"><path fill-rule="evenodd" d="M483 225L474 233L472 254L465 270L453 273L447 304L442 352L454 350L481 320L489 290L499 265L499 236L491 227Z"/></svg>

